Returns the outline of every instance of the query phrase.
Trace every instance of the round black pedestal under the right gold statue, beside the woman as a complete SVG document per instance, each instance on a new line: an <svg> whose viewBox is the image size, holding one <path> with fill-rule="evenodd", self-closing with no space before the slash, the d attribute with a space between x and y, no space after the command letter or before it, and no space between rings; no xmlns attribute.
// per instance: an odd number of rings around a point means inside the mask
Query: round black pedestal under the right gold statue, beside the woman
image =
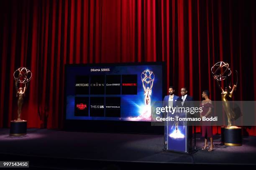
<svg viewBox="0 0 256 170"><path fill-rule="evenodd" d="M228 146L241 146L242 128L225 128L224 144Z"/></svg>

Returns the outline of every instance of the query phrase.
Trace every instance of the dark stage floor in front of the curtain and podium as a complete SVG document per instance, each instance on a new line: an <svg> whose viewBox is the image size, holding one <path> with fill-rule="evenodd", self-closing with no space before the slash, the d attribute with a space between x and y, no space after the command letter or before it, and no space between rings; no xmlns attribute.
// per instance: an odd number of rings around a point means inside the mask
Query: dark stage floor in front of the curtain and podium
<svg viewBox="0 0 256 170"><path fill-rule="evenodd" d="M23 137L10 137L8 134L9 129L0 129L1 160L51 158L63 162L90 160L177 165L256 164L254 136L244 137L242 146L225 146L220 144L220 135L215 135L213 152L199 149L193 154L182 154L162 151L163 135L84 133L46 129L28 129L28 134ZM203 138L197 134L197 148L202 146Z"/></svg>

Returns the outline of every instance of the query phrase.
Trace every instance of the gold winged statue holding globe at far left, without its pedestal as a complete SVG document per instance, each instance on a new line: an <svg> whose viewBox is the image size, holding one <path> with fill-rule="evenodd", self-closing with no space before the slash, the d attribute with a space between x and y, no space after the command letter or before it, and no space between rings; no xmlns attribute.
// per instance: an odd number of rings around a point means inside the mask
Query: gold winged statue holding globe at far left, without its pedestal
<svg viewBox="0 0 256 170"><path fill-rule="evenodd" d="M15 80L16 97L18 97L18 118L14 121L24 121L20 119L20 113L23 105L23 97L28 88L28 82L32 78L32 72L26 67L20 67L13 73L13 77Z"/></svg>

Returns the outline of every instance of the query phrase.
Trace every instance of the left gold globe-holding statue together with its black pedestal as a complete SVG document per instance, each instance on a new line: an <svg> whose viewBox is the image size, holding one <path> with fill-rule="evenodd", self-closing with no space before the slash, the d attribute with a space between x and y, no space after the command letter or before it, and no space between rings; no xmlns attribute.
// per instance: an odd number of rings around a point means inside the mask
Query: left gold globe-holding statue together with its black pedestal
<svg viewBox="0 0 256 170"><path fill-rule="evenodd" d="M32 78L32 73L26 67L20 67L13 73L13 77L15 80L16 97L18 97L18 118L11 121L10 135L18 136L26 134L27 121L22 120L20 115L23 105L23 97L25 97L28 89L28 82Z"/></svg>

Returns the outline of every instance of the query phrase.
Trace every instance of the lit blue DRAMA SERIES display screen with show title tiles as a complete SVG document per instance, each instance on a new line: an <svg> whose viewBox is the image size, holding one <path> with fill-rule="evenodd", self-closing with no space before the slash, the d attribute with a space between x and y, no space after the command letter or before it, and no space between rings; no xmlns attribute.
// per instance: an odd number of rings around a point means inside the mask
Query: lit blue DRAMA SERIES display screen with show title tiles
<svg viewBox="0 0 256 170"><path fill-rule="evenodd" d="M151 121L163 64L66 65L66 119Z"/></svg>

